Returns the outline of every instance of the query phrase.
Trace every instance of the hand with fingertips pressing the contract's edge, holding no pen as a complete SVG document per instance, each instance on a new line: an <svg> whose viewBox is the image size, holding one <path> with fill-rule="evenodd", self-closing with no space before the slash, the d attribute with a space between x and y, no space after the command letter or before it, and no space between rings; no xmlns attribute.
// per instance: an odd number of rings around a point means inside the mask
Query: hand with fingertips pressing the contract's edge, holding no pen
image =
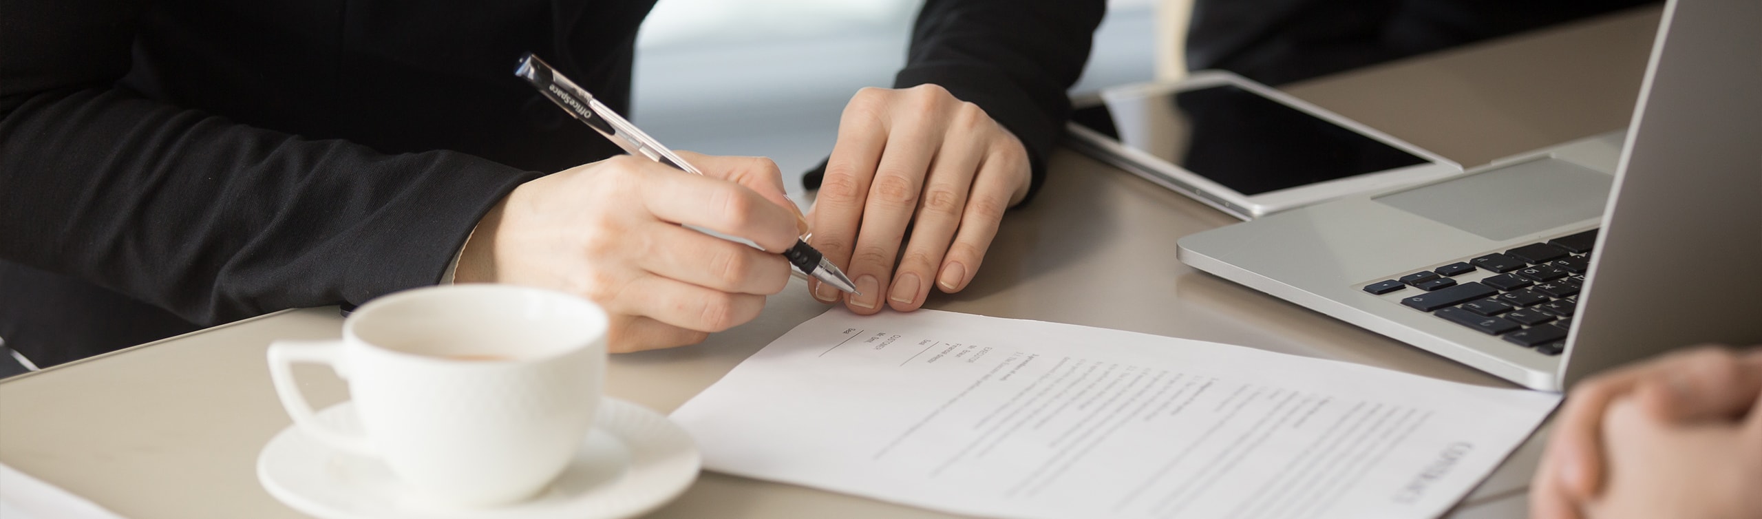
<svg viewBox="0 0 1762 519"><path fill-rule="evenodd" d="M809 213L809 243L844 267L862 296L811 281L814 299L842 297L867 315L881 304L916 310L932 285L966 289L1029 181L1022 141L978 106L936 84L863 88L844 107Z"/></svg>

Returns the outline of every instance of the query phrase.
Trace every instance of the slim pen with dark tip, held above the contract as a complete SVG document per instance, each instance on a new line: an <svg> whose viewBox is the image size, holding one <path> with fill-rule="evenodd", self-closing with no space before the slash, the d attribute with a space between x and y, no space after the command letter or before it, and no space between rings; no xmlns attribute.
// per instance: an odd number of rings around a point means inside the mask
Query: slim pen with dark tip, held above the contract
<svg viewBox="0 0 1762 519"><path fill-rule="evenodd" d="M594 99L592 93L587 93L587 90L576 86L574 81L569 81L569 77L557 74L555 69L546 65L544 60L539 60L532 53L520 56L520 67L515 69L515 76L525 77L529 83L532 83L532 86L539 90L539 93L555 102L559 107L574 116L578 121L587 123L587 127L594 128L601 135L606 135L606 139L611 139L611 143L618 144L618 148L624 148L624 151L629 151L631 155L638 157L647 157L648 160L661 162L677 167L680 171L703 174L703 171L687 164L685 158L675 155L673 150L661 146L659 141L648 137L648 134L638 130L636 125L631 125L631 121L626 121L622 116L618 116L618 113L601 104L597 99ZM708 229L700 229L696 225L685 225L685 227L722 239L737 241L758 250L765 250L763 246L758 246L758 243L752 243L751 239L745 238L712 232ZM800 238L795 241L795 246L791 246L782 253L782 257L789 259L789 266L793 266L802 274L814 276L821 283L832 285L833 289L862 296L860 292L856 292L856 285L851 283L851 278L846 276L844 271L840 271L837 266L826 260L826 257L819 253L819 250L814 250L814 246L809 246L807 241L802 241Z"/></svg>

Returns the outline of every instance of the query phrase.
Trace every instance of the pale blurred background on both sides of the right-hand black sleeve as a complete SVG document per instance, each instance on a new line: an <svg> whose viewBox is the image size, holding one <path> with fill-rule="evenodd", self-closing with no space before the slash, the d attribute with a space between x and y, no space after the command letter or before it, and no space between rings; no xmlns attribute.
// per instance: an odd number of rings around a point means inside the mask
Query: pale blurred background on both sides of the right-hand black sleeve
<svg viewBox="0 0 1762 519"><path fill-rule="evenodd" d="M922 0L661 0L631 120L675 150L770 157L791 195L863 86L892 86ZM1154 76L1156 0L1110 0L1073 91ZM796 197L800 199L800 197Z"/></svg>

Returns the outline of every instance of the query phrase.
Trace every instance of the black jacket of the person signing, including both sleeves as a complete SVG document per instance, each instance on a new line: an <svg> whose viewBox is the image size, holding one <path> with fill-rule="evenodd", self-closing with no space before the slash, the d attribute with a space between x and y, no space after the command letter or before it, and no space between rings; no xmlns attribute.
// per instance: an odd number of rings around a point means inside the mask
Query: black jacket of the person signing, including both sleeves
<svg viewBox="0 0 1762 519"><path fill-rule="evenodd" d="M65 278L189 322L171 331L435 283L513 186L617 153L515 60L626 111L652 4L0 0L0 336L51 364L127 345L67 345L123 324L44 308ZM930 0L897 86L978 104L1038 165L1101 14Z"/></svg>

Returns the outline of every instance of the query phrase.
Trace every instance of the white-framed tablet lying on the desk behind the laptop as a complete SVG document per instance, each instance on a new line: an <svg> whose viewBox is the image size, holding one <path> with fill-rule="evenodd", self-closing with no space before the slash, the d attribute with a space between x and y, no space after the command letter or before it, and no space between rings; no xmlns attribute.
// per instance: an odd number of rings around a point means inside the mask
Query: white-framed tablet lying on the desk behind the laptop
<svg viewBox="0 0 1762 519"><path fill-rule="evenodd" d="M1221 70L1078 99L1068 130L1075 148L1242 220L1462 172Z"/></svg>

